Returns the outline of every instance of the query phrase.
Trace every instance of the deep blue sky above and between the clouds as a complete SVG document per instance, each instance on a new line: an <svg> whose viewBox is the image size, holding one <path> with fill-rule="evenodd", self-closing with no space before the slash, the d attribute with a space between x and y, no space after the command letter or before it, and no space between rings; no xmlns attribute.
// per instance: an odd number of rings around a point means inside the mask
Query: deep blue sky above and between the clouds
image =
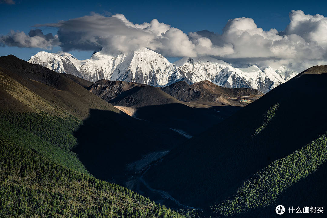
<svg viewBox="0 0 327 218"><path fill-rule="evenodd" d="M91 15L94 12L105 17L123 14L133 24L150 23L157 19L160 23L176 27L182 32L209 30L222 34L228 20L247 17L254 20L257 27L264 31L274 28L282 31L290 23L289 13L302 10L306 15L327 16L326 1L24 1L6 4L11 0L0 0L0 35L5 36L11 30L24 31L35 29L37 24L54 24L59 21ZM58 28L37 27L44 34L57 34ZM211 38L210 38L211 39ZM212 39L211 39L212 40ZM235 45L234 45L235 47ZM0 56L13 54L28 60L30 56L44 48L18 48L4 45L0 47ZM55 46L49 52L57 52ZM79 49L80 50L80 49ZM77 59L87 59L92 51L69 51ZM164 53L164 52L163 52ZM165 56L181 56L177 53ZM226 56L227 57L227 56ZM228 58L231 58L227 57ZM234 56L232 57L234 58ZM242 57L243 58L243 57Z"/></svg>

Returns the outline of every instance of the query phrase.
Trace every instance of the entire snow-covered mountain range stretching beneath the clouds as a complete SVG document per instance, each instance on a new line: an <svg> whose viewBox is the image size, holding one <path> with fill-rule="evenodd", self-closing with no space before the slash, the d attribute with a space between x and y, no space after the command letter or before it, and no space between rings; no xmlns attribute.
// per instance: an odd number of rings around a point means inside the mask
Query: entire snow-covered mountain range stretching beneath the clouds
<svg viewBox="0 0 327 218"><path fill-rule="evenodd" d="M77 60L63 52L42 51L28 62L92 82L107 79L162 87L181 80L188 84L209 80L227 88L253 88L264 93L296 75L296 72L285 67L274 69L252 65L235 68L211 57L182 58L170 63L162 55L147 48L116 54L103 48L88 60Z"/></svg>

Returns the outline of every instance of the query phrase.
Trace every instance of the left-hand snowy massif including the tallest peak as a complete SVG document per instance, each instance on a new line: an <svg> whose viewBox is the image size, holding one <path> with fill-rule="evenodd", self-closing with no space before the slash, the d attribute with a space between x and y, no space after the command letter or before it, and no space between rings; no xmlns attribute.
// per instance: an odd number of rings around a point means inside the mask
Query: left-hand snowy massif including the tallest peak
<svg viewBox="0 0 327 218"><path fill-rule="evenodd" d="M76 75L77 71L80 74L78 77L92 82L107 79L166 86L182 80L174 64L146 48L125 54L112 54L103 48L84 61L78 61L67 53L39 52L29 62L41 64L59 73L70 73L73 70L72 74Z"/></svg>

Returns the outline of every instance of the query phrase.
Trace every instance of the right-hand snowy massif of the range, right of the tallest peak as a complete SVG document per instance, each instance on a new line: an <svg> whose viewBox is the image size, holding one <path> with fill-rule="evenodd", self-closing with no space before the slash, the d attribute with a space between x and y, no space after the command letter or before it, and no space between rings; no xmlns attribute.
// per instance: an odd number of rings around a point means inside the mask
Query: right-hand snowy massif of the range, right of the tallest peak
<svg viewBox="0 0 327 218"><path fill-rule="evenodd" d="M279 69L265 67L262 70L255 65L235 68L211 57L182 58L174 64L188 83L209 80L218 86L253 88L264 93L296 75L283 66Z"/></svg>

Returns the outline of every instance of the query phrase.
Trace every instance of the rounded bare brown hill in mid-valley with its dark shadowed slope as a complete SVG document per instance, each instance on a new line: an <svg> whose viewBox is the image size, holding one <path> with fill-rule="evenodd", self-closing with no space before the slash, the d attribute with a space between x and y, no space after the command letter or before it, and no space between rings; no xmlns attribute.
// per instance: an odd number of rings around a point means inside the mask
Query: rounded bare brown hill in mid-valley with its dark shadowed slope
<svg viewBox="0 0 327 218"><path fill-rule="evenodd" d="M190 136L198 135L241 108L197 103L188 106L157 87L131 82L102 79L92 84L89 89L114 106L133 109L136 111L132 114L134 117L176 129Z"/></svg>

